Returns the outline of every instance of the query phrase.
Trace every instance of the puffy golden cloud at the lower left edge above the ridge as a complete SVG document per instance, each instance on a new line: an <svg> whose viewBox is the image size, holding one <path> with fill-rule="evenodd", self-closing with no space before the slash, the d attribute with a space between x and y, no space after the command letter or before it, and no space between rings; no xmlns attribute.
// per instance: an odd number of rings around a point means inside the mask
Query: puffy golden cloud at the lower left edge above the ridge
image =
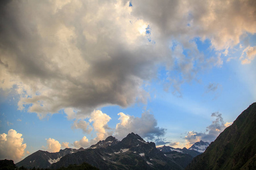
<svg viewBox="0 0 256 170"><path fill-rule="evenodd" d="M8 134L0 134L0 159L12 159L16 163L24 156L26 147L22 134L16 130L10 129Z"/></svg>

